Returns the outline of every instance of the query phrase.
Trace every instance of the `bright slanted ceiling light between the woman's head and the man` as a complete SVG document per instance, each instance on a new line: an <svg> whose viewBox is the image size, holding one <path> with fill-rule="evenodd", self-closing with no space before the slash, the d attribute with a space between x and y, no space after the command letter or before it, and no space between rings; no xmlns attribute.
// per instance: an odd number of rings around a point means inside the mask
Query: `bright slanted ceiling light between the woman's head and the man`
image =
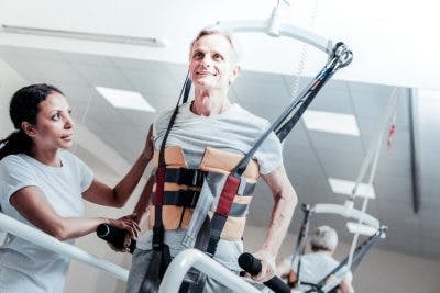
<svg viewBox="0 0 440 293"><path fill-rule="evenodd" d="M155 113L156 110L136 91L96 87L96 90L114 108L141 110Z"/></svg>

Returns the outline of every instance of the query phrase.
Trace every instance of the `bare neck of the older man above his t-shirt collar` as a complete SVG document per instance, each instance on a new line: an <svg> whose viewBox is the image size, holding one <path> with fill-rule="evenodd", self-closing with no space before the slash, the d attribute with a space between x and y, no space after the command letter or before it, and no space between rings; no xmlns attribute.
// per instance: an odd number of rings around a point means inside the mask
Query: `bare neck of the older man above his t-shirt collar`
<svg viewBox="0 0 440 293"><path fill-rule="evenodd" d="M212 116L223 113L231 105L227 94L215 90L197 90L191 111L196 115Z"/></svg>

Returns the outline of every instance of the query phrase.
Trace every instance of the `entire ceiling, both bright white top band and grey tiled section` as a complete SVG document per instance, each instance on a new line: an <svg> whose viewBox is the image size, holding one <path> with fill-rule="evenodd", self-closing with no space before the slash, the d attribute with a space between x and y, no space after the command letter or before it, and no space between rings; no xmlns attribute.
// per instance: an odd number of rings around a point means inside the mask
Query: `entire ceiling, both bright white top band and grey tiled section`
<svg viewBox="0 0 440 293"><path fill-rule="evenodd" d="M290 2L285 19L320 35L342 40L354 53L353 64L334 76L310 109L353 114L361 132L353 137L307 131L302 122L297 124L285 142L284 159L299 202L344 202L346 196L332 193L327 179L356 179L363 158L382 131L394 87L398 86L396 134L391 149L382 147L374 179L377 199L369 202L367 212L389 227L387 239L380 244L382 248L439 259L440 198L436 173L440 173L440 99L436 93L424 98L416 91L413 105L421 195L417 214L413 209L409 132L409 88L439 89L440 55L436 52L439 41L427 30L439 27L436 1ZM166 47L157 48L0 30L0 59L25 83L48 82L59 87L78 124L75 151L94 169L119 177L142 149L156 114L114 109L95 86L139 91L158 110L173 106L186 75L187 47L194 34L217 20L266 19L276 1L218 3L133 0L128 5L116 0L0 0L0 24L160 37L167 43ZM290 100L296 78L288 72L299 71L302 45L286 40L274 42L268 36L242 35L239 41L246 70L233 84L230 98L273 121ZM324 61L324 54L309 48L302 76L314 76ZM2 70L0 67L0 76L4 74ZM301 84L307 80L302 77ZM9 95L1 93L0 104L6 104ZM258 185L250 224L266 226L272 202L263 184ZM360 200L355 206L360 209ZM297 209L293 232L298 230L300 218ZM350 239L345 219L319 216L316 221L315 225L334 225L344 240Z"/></svg>

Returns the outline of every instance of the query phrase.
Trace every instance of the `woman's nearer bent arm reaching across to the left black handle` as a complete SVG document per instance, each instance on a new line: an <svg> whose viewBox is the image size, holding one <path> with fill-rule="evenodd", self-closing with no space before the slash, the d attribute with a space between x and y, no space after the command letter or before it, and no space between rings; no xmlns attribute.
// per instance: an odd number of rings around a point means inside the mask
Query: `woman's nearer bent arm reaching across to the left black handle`
<svg viewBox="0 0 440 293"><path fill-rule="evenodd" d="M139 226L130 217L111 219L103 217L62 217L44 199L36 187L26 187L13 193L11 205L32 225L43 232L66 240L87 235L97 229L98 225L109 225L127 229L132 237L138 237Z"/></svg>

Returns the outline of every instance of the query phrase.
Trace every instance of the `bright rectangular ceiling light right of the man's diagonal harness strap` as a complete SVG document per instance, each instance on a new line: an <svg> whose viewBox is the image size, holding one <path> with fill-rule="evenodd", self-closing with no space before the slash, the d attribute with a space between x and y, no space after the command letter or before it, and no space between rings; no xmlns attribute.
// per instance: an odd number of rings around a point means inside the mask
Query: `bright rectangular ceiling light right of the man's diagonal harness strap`
<svg viewBox="0 0 440 293"><path fill-rule="evenodd" d="M304 122L309 131L359 136L356 119L351 114L307 110Z"/></svg>

